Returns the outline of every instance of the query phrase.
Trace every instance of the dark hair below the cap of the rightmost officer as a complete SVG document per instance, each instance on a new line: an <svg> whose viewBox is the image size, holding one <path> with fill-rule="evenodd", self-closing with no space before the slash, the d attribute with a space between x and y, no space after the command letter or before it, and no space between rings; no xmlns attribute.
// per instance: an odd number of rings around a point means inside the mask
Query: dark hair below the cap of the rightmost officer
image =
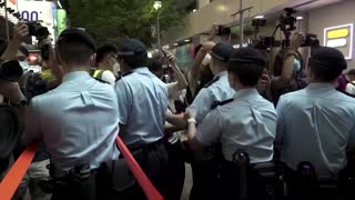
<svg viewBox="0 0 355 200"><path fill-rule="evenodd" d="M331 82L336 80L343 72L344 68L336 66L328 66L326 63L318 62L317 60L310 59L310 68L315 78L320 81Z"/></svg>

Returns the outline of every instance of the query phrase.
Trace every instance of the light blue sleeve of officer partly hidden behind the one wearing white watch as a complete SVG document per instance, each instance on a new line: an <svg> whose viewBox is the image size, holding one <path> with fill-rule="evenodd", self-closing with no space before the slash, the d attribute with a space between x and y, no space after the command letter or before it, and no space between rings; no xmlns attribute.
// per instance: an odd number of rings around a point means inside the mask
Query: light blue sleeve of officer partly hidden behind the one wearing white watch
<svg viewBox="0 0 355 200"><path fill-rule="evenodd" d="M203 88L187 110L194 110L196 112L196 122L201 123L203 118L211 111L213 104L212 93L209 89Z"/></svg>

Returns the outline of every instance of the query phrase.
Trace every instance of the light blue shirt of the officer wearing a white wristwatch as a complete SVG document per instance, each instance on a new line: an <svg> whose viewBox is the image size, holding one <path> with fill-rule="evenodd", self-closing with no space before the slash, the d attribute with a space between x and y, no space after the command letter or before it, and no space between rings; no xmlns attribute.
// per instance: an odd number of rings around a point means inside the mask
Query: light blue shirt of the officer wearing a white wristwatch
<svg viewBox="0 0 355 200"><path fill-rule="evenodd" d="M197 127L196 140L205 146L220 141L224 159L243 149L252 163L273 159L277 114L256 89L236 91L234 100L212 110Z"/></svg>

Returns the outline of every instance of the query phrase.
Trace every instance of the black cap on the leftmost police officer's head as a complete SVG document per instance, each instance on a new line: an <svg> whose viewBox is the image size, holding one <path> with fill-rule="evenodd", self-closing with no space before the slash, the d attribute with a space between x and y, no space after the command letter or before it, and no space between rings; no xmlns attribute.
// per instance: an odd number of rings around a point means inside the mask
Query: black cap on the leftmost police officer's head
<svg viewBox="0 0 355 200"><path fill-rule="evenodd" d="M58 38L58 43L61 41L81 41L85 43L90 49L97 51L95 40L85 31L78 28L65 29Z"/></svg>

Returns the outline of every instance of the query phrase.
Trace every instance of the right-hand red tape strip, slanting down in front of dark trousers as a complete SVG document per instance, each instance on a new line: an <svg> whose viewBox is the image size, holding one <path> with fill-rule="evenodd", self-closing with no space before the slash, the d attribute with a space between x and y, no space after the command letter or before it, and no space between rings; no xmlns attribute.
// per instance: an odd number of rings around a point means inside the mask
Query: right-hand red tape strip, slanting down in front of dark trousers
<svg viewBox="0 0 355 200"><path fill-rule="evenodd" d="M126 148L124 142L120 137L115 140L118 142L118 146L120 148L121 153L126 159L128 164L130 166L135 179L140 183L140 186L143 188L143 191L149 200L163 200L164 198L160 194L160 192L155 189L155 187L152 184L152 182L149 180L149 178L145 176L142 168L139 166L139 163L133 158L130 150Z"/></svg>

